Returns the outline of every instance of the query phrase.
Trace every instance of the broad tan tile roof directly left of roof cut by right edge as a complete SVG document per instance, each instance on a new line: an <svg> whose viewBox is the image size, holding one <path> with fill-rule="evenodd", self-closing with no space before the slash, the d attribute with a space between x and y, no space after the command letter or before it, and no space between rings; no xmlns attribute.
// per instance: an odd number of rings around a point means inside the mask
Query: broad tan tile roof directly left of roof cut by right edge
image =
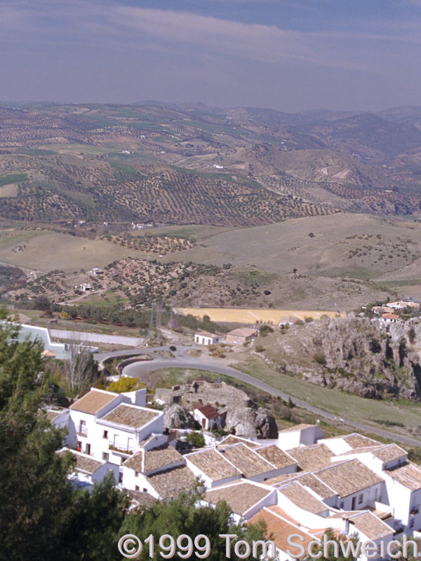
<svg viewBox="0 0 421 561"><path fill-rule="evenodd" d="M333 464L330 468L317 471L315 475L338 492L340 497L362 491L383 481L379 475L357 459Z"/></svg>

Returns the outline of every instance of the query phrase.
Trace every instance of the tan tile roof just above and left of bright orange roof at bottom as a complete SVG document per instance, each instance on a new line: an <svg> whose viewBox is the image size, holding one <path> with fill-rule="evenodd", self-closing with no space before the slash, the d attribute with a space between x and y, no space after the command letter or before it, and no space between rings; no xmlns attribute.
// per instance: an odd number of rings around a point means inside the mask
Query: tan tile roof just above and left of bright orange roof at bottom
<svg viewBox="0 0 421 561"><path fill-rule="evenodd" d="M223 485L218 489L210 489L205 495L205 500L211 504L227 501L229 508L235 514L243 515L269 493L272 493L272 490L253 485L251 482L239 482L234 485Z"/></svg>

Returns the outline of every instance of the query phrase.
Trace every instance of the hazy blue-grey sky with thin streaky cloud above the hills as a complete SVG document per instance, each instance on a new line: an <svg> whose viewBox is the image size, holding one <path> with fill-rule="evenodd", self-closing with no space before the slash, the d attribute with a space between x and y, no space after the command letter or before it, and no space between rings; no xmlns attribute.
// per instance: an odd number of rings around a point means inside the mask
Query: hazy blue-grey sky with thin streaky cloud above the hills
<svg viewBox="0 0 421 561"><path fill-rule="evenodd" d="M421 105L421 0L0 0L0 100Z"/></svg>

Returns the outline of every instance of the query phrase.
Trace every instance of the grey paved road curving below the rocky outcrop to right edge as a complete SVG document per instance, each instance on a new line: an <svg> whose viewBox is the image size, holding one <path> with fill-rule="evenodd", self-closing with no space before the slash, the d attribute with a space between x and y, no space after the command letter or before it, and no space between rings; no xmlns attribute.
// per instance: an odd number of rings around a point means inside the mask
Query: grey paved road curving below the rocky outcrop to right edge
<svg viewBox="0 0 421 561"><path fill-rule="evenodd" d="M163 349L165 349L165 347L159 347L159 349L139 349L139 351L141 350L142 353L153 354L154 351ZM133 351L130 352L133 353ZM324 417L325 419L330 419L331 421L347 424L359 431L372 433L377 436L382 436L383 438L389 438L391 440L395 440L396 442L401 442L404 445L421 447L421 440L396 434L391 431L384 431L382 428L365 425L356 421L350 421L349 419L343 419L342 417L338 417L338 415L323 411L322 409L319 409L319 407L314 407L314 405L310 405L303 400L293 398L293 396L290 396L288 393L274 388L273 386L269 386L269 384L266 384L264 381L254 378L245 372L240 372L235 368L221 365L210 360L201 360L188 356L185 354L185 349L180 348L178 353L175 353L175 355L175 358L156 358L155 360L148 361L147 363L132 363L131 365L123 368L123 373L127 376L141 377L142 374L145 374L146 372L154 372L155 370L161 370L162 368L194 368L196 370L208 370L209 372L215 372L215 374L225 374L226 376L230 376L239 381L246 382L246 384L250 384L250 386L254 386L262 391L266 391L271 396L280 397L286 401L291 399L295 405L312 412L318 417Z"/></svg>

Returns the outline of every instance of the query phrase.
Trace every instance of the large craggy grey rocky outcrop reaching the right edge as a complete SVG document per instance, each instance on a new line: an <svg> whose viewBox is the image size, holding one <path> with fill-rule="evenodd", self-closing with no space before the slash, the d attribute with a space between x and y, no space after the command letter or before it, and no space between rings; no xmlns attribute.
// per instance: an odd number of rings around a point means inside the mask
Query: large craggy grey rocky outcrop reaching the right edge
<svg viewBox="0 0 421 561"><path fill-rule="evenodd" d="M270 339L269 339L270 337ZM278 370L366 398L421 400L421 323L380 328L368 318L324 319L267 337Z"/></svg>

